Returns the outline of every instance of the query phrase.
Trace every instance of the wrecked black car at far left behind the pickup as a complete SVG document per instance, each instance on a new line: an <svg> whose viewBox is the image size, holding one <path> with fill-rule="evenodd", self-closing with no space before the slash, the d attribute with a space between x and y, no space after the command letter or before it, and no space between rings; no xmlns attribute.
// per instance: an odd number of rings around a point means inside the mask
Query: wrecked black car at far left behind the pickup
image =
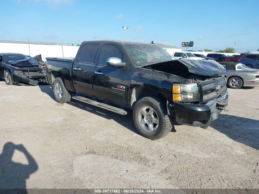
<svg viewBox="0 0 259 194"><path fill-rule="evenodd" d="M35 85L46 82L41 55L31 57L18 53L0 53L0 78L7 85Z"/></svg>

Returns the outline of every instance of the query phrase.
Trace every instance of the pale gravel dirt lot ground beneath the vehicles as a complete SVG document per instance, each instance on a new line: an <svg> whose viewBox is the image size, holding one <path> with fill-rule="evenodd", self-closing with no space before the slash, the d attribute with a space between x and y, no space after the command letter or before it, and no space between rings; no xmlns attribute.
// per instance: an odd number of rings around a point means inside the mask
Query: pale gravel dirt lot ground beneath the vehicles
<svg viewBox="0 0 259 194"><path fill-rule="evenodd" d="M155 141L132 113L59 104L49 87L0 81L0 188L259 188L259 87L229 89L208 129Z"/></svg>

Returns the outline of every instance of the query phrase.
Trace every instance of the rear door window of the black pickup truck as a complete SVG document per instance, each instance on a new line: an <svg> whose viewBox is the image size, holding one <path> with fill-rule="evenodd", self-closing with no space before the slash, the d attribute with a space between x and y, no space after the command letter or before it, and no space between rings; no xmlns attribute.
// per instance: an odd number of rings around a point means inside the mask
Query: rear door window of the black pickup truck
<svg viewBox="0 0 259 194"><path fill-rule="evenodd" d="M98 49L98 44L85 44L81 49L79 61L84 63L93 63Z"/></svg>

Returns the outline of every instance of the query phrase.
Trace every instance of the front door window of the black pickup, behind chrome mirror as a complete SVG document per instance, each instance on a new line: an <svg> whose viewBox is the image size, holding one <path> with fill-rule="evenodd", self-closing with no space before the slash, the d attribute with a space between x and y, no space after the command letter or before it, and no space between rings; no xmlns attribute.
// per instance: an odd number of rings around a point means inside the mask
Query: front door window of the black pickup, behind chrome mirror
<svg viewBox="0 0 259 194"><path fill-rule="evenodd" d="M106 61L110 57L117 57L120 58L121 61L123 60L123 55L116 46L111 44L105 44L102 48L98 64L106 65Z"/></svg>

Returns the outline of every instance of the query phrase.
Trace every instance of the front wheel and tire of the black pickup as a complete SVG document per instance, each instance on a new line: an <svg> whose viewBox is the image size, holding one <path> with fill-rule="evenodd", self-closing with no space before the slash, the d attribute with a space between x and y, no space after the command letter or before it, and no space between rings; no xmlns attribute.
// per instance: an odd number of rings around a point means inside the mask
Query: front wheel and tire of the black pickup
<svg viewBox="0 0 259 194"><path fill-rule="evenodd" d="M148 139L160 139L172 129L166 103L158 97L144 97L133 109L133 121L137 131Z"/></svg>

